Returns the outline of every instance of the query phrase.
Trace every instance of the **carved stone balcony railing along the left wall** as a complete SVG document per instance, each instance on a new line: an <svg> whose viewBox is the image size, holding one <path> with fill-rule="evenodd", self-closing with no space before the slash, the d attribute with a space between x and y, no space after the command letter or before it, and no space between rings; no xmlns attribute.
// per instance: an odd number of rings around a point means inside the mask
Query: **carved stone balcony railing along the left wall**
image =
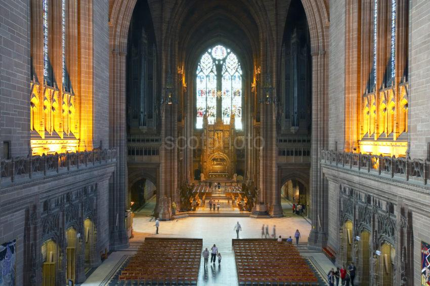
<svg viewBox="0 0 430 286"><path fill-rule="evenodd" d="M62 153L42 156L28 156L3 160L0 176L2 183L35 176L52 176L73 169L83 169L116 161L116 149L88 152Z"/></svg>

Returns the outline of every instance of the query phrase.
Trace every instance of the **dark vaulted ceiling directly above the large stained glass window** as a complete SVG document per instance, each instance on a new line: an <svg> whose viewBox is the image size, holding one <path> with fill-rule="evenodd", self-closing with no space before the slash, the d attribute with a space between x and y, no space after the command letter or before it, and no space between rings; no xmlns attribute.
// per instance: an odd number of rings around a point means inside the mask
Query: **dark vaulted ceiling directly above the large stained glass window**
<svg viewBox="0 0 430 286"><path fill-rule="evenodd" d="M178 46L185 62L195 64L204 50L215 44L230 47L243 64L258 53L259 13L246 0L187 1L178 19ZM258 19L258 18L257 18Z"/></svg>

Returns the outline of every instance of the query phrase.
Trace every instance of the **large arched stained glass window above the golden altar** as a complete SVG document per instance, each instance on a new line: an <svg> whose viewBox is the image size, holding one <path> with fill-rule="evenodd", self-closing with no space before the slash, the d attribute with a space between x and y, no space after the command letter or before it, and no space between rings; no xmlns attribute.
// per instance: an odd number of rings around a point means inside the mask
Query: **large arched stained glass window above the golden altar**
<svg viewBox="0 0 430 286"><path fill-rule="evenodd" d="M217 73L221 71L221 73ZM219 85L218 85L219 83ZM221 90L217 89L221 87ZM224 124L235 116L235 128L242 129L242 69L236 55L223 46L215 46L203 54L196 77L196 128L203 127L203 115L208 124L217 117L217 98L221 101Z"/></svg>

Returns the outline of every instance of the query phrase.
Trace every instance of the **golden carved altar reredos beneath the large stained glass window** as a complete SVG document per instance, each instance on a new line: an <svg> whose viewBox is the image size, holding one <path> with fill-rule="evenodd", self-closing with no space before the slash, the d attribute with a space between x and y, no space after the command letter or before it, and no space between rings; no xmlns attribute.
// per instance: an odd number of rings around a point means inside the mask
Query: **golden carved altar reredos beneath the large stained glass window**
<svg viewBox="0 0 430 286"><path fill-rule="evenodd" d="M231 179L236 173L236 138L234 115L230 124L224 124L217 118L214 124L208 124L207 117L203 120L201 166L204 178Z"/></svg>

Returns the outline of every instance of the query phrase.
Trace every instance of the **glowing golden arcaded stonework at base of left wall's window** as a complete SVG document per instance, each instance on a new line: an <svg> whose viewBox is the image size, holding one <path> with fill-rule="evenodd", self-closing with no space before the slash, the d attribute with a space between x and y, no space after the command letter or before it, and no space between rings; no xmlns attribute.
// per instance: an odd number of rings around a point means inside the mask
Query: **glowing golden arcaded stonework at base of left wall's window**
<svg viewBox="0 0 430 286"><path fill-rule="evenodd" d="M32 155L92 150L92 120L81 121L81 100L73 92L30 82L30 146ZM91 112L84 111L85 118ZM83 132L82 132L83 131Z"/></svg>

